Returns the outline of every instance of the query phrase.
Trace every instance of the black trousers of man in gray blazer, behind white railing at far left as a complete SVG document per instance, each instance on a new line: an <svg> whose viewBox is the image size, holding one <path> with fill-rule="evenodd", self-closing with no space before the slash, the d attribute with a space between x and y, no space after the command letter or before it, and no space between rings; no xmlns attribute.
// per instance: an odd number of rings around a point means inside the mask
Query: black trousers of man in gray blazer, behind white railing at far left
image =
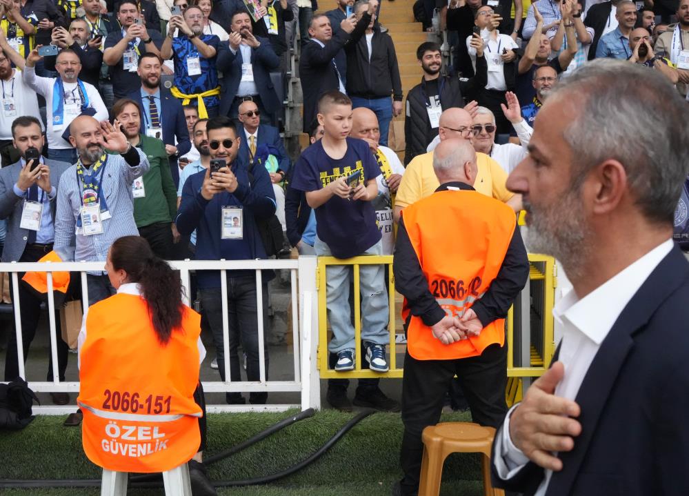
<svg viewBox="0 0 689 496"><path fill-rule="evenodd" d="M46 253L52 250L52 245L27 245L19 258L20 262L38 261ZM33 292L28 285L21 281L24 272L18 274L19 277L19 315L21 316L21 348L24 351L24 363L29 354L29 347L36 335L39 319L41 318L41 298ZM10 284L10 286L12 286ZM14 295L14 290L10 294ZM69 347L62 340L60 316L55 312L55 333L57 337L57 371L61 381L65 380L65 370L67 369L67 359ZM13 329L7 346L5 358L5 380L12 381L19 377L19 360L17 359L17 333ZM48 354L48 381L52 381L52 353Z"/></svg>

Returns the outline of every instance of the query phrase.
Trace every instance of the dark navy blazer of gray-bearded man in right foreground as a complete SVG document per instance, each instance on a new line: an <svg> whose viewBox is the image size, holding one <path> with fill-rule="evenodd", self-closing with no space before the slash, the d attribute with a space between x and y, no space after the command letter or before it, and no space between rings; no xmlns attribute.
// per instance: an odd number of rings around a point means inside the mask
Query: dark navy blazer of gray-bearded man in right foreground
<svg viewBox="0 0 689 496"><path fill-rule="evenodd" d="M689 263L675 246L612 326L577 393L581 435L559 453L546 496L686 495L689 490ZM499 431L496 435L501 435ZM494 446L495 448L495 446ZM495 453L493 453L495 456ZM493 485L532 495L528 463Z"/></svg>

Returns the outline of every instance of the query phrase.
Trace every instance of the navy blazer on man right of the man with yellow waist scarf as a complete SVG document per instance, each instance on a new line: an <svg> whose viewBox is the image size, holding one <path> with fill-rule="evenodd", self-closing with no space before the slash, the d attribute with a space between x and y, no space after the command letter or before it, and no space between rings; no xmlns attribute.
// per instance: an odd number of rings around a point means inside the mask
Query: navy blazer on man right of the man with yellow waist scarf
<svg viewBox="0 0 689 496"><path fill-rule="evenodd" d="M269 113L274 113L279 110L281 101L277 98L275 88L270 81L270 72L277 70L280 66L280 59L270 45L267 38L257 37L261 43L259 48L251 49L251 64L254 70L254 83L256 89L261 95L261 102L263 107ZM232 108L232 101L237 95L239 88L239 81L241 80L241 51L237 49L237 53L232 53L230 50L229 41L221 41L218 45L218 56L216 61L217 70L223 72L225 77L221 80L222 83L222 97L220 99L220 115L229 115L230 108ZM230 117L237 117L230 115Z"/></svg>

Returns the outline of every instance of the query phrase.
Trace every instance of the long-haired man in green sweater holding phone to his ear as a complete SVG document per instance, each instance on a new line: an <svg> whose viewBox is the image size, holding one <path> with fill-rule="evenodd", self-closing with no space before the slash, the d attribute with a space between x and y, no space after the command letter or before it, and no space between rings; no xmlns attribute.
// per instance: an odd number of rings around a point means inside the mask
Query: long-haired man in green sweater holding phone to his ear
<svg viewBox="0 0 689 496"><path fill-rule="evenodd" d="M134 100L123 98L112 106L112 115L121 124L121 130L128 141L141 148L148 157L150 169L143 175L143 181L134 183L134 221L139 235L145 237L151 250L169 260L172 255L172 240L179 239L172 219L177 215L177 195L168 166L165 146L159 139L141 133L141 108ZM138 186L138 187L137 187Z"/></svg>

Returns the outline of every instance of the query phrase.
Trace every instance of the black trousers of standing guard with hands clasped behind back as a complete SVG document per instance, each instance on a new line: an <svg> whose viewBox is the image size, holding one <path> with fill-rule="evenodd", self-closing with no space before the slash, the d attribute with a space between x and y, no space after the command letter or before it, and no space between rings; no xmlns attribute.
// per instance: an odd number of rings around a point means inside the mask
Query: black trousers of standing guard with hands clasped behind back
<svg viewBox="0 0 689 496"><path fill-rule="evenodd" d="M402 379L402 422L404 434L400 462L404 477L402 493L419 490L423 442L421 433L440 420L445 393L457 375L473 421L499 427L507 413L507 345L493 344L478 357L456 360L417 360L404 357Z"/></svg>

